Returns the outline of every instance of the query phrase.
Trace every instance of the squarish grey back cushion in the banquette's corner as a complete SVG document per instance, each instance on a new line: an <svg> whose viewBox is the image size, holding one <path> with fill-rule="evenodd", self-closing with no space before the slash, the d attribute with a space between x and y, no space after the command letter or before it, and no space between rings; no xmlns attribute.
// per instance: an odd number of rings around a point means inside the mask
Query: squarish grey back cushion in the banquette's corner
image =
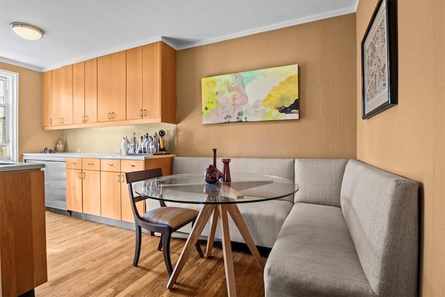
<svg viewBox="0 0 445 297"><path fill-rule="evenodd" d="M294 202L340 207L340 188L346 159L295 159L295 181L300 189Z"/></svg>

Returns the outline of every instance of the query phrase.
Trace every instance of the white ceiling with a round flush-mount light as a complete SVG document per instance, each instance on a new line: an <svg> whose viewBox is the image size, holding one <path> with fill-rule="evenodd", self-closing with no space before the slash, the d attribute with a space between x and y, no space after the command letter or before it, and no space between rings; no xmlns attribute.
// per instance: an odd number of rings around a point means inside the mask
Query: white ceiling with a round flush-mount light
<svg viewBox="0 0 445 297"><path fill-rule="evenodd" d="M357 0L0 0L0 61L51 70L161 38L185 49L356 8ZM45 35L23 40L12 22Z"/></svg>

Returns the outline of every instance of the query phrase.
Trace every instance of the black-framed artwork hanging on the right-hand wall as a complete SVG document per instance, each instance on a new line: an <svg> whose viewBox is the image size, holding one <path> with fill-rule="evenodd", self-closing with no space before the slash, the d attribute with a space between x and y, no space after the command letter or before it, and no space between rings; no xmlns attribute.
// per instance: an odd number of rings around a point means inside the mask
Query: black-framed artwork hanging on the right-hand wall
<svg viewBox="0 0 445 297"><path fill-rule="evenodd" d="M362 39L362 119L398 104L397 1L379 0Z"/></svg>

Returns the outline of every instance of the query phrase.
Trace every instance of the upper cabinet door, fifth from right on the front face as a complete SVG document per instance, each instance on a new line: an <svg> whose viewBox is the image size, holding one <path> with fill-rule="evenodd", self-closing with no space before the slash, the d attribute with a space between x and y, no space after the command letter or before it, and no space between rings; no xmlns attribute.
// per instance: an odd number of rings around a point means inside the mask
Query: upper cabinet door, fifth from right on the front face
<svg viewBox="0 0 445 297"><path fill-rule="evenodd" d="M85 122L97 122L97 58L85 61Z"/></svg>

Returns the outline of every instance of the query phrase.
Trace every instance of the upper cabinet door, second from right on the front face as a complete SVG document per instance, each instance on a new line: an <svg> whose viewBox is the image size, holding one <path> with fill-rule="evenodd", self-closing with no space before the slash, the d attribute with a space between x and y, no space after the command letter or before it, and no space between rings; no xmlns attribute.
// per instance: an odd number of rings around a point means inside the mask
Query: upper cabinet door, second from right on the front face
<svg viewBox="0 0 445 297"><path fill-rule="evenodd" d="M127 50L127 120L143 117L142 52L142 47Z"/></svg>

